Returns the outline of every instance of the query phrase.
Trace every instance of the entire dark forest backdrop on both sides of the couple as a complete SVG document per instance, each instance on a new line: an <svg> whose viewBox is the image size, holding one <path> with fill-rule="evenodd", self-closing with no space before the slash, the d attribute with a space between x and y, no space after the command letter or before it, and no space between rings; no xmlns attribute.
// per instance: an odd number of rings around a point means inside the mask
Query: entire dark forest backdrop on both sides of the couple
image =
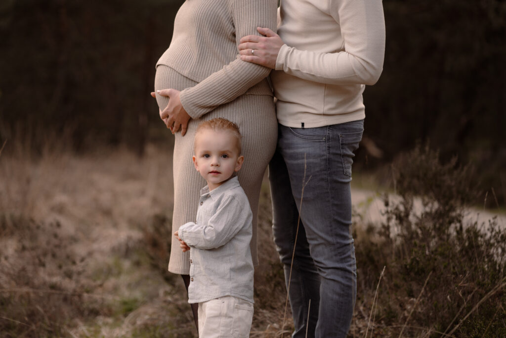
<svg viewBox="0 0 506 338"><path fill-rule="evenodd" d="M1 142L36 153L61 138L76 152L127 145L139 156L148 142L172 142L149 92L181 3L1 0ZM383 5L385 65L364 93L357 166L377 170L429 143L443 162L472 163L483 195L494 188L504 206L506 1Z"/></svg>

